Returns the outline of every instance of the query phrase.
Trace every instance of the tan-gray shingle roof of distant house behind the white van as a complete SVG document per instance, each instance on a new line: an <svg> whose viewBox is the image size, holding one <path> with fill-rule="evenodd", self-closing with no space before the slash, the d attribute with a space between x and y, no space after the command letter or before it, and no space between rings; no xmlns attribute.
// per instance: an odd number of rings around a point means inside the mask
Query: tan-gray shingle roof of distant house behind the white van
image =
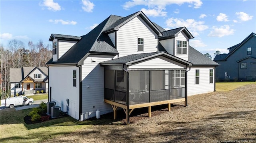
<svg viewBox="0 0 256 143"><path fill-rule="evenodd" d="M48 79L48 68L46 67L37 67L40 69L44 74L46 74ZM34 71L36 67L23 67L23 68L10 68L10 82L21 82ZM33 78L33 77L32 77ZM44 79L42 79L43 81ZM41 81L41 80L40 80Z"/></svg>

